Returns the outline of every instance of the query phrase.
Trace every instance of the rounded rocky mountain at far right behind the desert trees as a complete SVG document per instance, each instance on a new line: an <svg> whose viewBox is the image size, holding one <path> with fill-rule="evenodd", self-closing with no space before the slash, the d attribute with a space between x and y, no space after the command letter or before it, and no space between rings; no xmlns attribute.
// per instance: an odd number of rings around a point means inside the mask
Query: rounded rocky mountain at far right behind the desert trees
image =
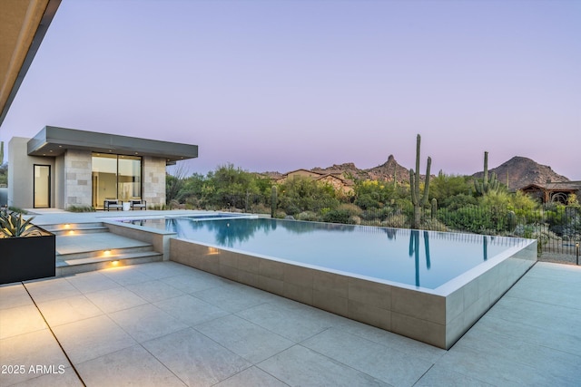
<svg viewBox="0 0 581 387"><path fill-rule="evenodd" d="M526 157L515 156L500 164L497 168L488 169L488 176L496 173L498 180L508 186L509 190L522 189L529 184L544 185L548 181L569 181L565 176L559 175L551 167L538 164ZM482 179L484 171L472 175Z"/></svg>

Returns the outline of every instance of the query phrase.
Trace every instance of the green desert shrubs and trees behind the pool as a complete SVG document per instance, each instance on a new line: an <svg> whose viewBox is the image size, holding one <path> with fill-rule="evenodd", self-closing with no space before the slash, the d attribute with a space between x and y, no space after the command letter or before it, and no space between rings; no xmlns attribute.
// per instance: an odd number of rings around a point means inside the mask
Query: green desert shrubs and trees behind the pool
<svg viewBox="0 0 581 387"><path fill-rule="evenodd" d="M539 240L541 247L546 247L549 240L561 245L574 243L581 234L581 207L575 195L570 195L567 204L541 205L522 192L508 192L501 183L487 181L487 189L477 189L485 187L485 182L443 171L430 179L429 190L424 181L419 181L417 189L428 195L426 199L422 197L419 206L413 203L411 185L405 182L354 179L352 192L345 194L330 184L308 178L275 183L232 164L219 166L206 176L177 172L167 176L169 208L532 237ZM419 221L416 225L415 220Z"/></svg>

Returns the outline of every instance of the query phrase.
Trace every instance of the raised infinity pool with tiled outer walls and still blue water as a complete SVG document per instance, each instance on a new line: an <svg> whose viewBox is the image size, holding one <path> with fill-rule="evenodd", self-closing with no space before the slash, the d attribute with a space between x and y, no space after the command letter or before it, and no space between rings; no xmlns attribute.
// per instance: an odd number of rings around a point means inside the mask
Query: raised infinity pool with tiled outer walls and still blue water
<svg viewBox="0 0 581 387"><path fill-rule="evenodd" d="M537 241L271 218L163 218L170 259L448 349L537 261ZM135 226L132 226L135 227Z"/></svg>

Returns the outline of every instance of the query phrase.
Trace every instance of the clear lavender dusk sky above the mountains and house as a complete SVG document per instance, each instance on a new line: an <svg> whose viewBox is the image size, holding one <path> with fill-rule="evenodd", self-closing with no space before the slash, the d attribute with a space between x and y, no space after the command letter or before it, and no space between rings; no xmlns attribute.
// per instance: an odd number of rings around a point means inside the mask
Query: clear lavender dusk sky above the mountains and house
<svg viewBox="0 0 581 387"><path fill-rule="evenodd" d="M63 0L0 128L196 144L188 171L472 174L513 156L581 180L581 1Z"/></svg>

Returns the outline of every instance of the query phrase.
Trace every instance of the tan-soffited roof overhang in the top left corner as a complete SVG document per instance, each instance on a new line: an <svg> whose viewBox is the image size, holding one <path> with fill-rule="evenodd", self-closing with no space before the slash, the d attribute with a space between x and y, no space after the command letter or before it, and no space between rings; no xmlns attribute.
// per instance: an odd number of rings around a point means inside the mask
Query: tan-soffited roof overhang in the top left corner
<svg viewBox="0 0 581 387"><path fill-rule="evenodd" d="M0 126L61 0L0 1Z"/></svg>

